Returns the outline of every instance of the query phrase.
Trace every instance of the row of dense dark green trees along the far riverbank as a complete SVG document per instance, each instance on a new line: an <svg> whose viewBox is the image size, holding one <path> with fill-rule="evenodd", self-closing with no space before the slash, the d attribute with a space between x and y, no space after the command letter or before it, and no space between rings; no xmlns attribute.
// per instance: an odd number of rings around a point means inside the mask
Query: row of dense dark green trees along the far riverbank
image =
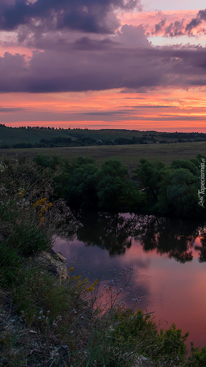
<svg viewBox="0 0 206 367"><path fill-rule="evenodd" d="M198 202L201 189L200 163L206 157L161 161L141 159L129 177L128 167L118 160L98 166L92 158L78 157L73 163L60 156L38 154L34 161L51 171L61 169L54 178L56 194L71 207L103 210L152 211L185 217L206 216Z"/></svg>

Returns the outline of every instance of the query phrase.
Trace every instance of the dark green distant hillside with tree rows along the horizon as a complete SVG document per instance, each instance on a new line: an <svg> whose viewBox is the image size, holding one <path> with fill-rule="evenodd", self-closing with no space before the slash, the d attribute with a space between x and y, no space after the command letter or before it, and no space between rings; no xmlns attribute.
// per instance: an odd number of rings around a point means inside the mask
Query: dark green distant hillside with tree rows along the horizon
<svg viewBox="0 0 206 367"><path fill-rule="evenodd" d="M198 132L158 132L121 129L54 129L6 127L0 124L0 148L54 148L91 145L148 145L206 141Z"/></svg>

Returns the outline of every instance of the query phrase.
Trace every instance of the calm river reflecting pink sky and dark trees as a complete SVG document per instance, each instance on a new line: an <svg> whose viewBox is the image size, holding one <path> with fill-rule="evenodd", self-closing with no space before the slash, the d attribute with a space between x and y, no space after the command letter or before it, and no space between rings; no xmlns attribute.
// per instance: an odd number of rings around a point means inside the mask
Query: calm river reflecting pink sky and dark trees
<svg viewBox="0 0 206 367"><path fill-rule="evenodd" d="M121 294L126 306L138 298L161 327L175 323L189 331L188 345L206 345L206 223L129 213L80 211L76 217L77 233L54 246L76 275L100 279L103 290L110 270L132 267L132 285ZM119 288L123 281L120 276Z"/></svg>

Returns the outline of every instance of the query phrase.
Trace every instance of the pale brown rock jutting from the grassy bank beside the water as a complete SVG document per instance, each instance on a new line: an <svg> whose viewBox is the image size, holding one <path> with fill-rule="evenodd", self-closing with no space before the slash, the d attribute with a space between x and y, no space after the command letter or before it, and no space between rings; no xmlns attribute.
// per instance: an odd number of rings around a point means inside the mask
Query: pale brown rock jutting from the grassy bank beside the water
<svg viewBox="0 0 206 367"><path fill-rule="evenodd" d="M40 265L43 268L58 276L59 280L66 280L66 258L63 257L61 252L55 252L51 249L47 251L41 251L36 257L36 261L41 263Z"/></svg>

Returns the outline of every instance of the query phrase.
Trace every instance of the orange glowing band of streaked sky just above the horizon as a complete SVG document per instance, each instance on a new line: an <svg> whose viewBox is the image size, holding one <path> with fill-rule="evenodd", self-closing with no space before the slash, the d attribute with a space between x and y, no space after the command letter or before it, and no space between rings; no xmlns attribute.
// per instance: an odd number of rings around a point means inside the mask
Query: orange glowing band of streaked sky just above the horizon
<svg viewBox="0 0 206 367"><path fill-rule="evenodd" d="M8 126L66 128L71 124L72 128L206 132L205 99L203 88L1 94L1 106L7 110L0 110L0 122Z"/></svg>

